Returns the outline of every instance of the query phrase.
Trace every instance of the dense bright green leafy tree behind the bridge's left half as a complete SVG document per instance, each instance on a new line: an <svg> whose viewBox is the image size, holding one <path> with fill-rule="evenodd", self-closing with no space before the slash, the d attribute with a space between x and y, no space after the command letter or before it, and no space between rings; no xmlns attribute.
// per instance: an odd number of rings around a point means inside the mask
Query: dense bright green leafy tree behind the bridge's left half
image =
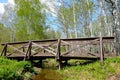
<svg viewBox="0 0 120 80"><path fill-rule="evenodd" d="M16 38L19 41L45 38L45 12L39 0L15 0Z"/></svg>

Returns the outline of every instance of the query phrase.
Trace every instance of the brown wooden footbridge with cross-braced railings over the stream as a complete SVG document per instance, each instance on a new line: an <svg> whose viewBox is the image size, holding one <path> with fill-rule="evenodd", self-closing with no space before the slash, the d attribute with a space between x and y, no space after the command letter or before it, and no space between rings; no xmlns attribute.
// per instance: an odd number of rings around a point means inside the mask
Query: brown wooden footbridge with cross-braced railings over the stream
<svg viewBox="0 0 120 80"><path fill-rule="evenodd" d="M1 44L1 56L17 60L39 60L54 58L62 66L62 61L70 59L103 59L115 55L114 37L91 37L75 39L52 39Z"/></svg>

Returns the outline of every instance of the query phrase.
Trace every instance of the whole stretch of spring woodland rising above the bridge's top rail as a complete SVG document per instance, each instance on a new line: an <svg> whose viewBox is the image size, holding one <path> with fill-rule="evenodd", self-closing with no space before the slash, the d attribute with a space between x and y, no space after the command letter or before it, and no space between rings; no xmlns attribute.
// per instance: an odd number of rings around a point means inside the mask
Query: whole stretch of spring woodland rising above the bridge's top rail
<svg viewBox="0 0 120 80"><path fill-rule="evenodd" d="M115 36L120 53L120 0L14 0L0 14L0 41ZM3 34L4 33L4 34ZM3 36L4 35L4 36Z"/></svg>

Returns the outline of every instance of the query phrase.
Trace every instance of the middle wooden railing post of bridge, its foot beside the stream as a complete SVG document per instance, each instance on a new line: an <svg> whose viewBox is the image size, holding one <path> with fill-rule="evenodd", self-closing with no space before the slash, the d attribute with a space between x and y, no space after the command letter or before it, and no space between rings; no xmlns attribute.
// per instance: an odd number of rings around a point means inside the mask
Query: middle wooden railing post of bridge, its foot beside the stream
<svg viewBox="0 0 120 80"><path fill-rule="evenodd" d="M58 39L56 61L58 61L58 63L59 63L59 70L60 70L61 67L62 67L62 60L61 60L61 57L60 57L60 55L61 55L61 50L60 50L60 46L61 46L61 45L60 45L60 44L61 44L61 40Z"/></svg>

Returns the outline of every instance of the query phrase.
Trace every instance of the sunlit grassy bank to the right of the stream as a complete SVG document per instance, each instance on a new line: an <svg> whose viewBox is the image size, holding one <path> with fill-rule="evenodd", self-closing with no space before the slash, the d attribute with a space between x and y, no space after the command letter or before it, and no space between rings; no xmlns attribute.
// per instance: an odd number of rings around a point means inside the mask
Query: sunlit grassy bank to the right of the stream
<svg viewBox="0 0 120 80"><path fill-rule="evenodd" d="M104 66L96 61L65 67L58 72L63 76L63 80L120 80L120 58L108 58L104 63Z"/></svg>

